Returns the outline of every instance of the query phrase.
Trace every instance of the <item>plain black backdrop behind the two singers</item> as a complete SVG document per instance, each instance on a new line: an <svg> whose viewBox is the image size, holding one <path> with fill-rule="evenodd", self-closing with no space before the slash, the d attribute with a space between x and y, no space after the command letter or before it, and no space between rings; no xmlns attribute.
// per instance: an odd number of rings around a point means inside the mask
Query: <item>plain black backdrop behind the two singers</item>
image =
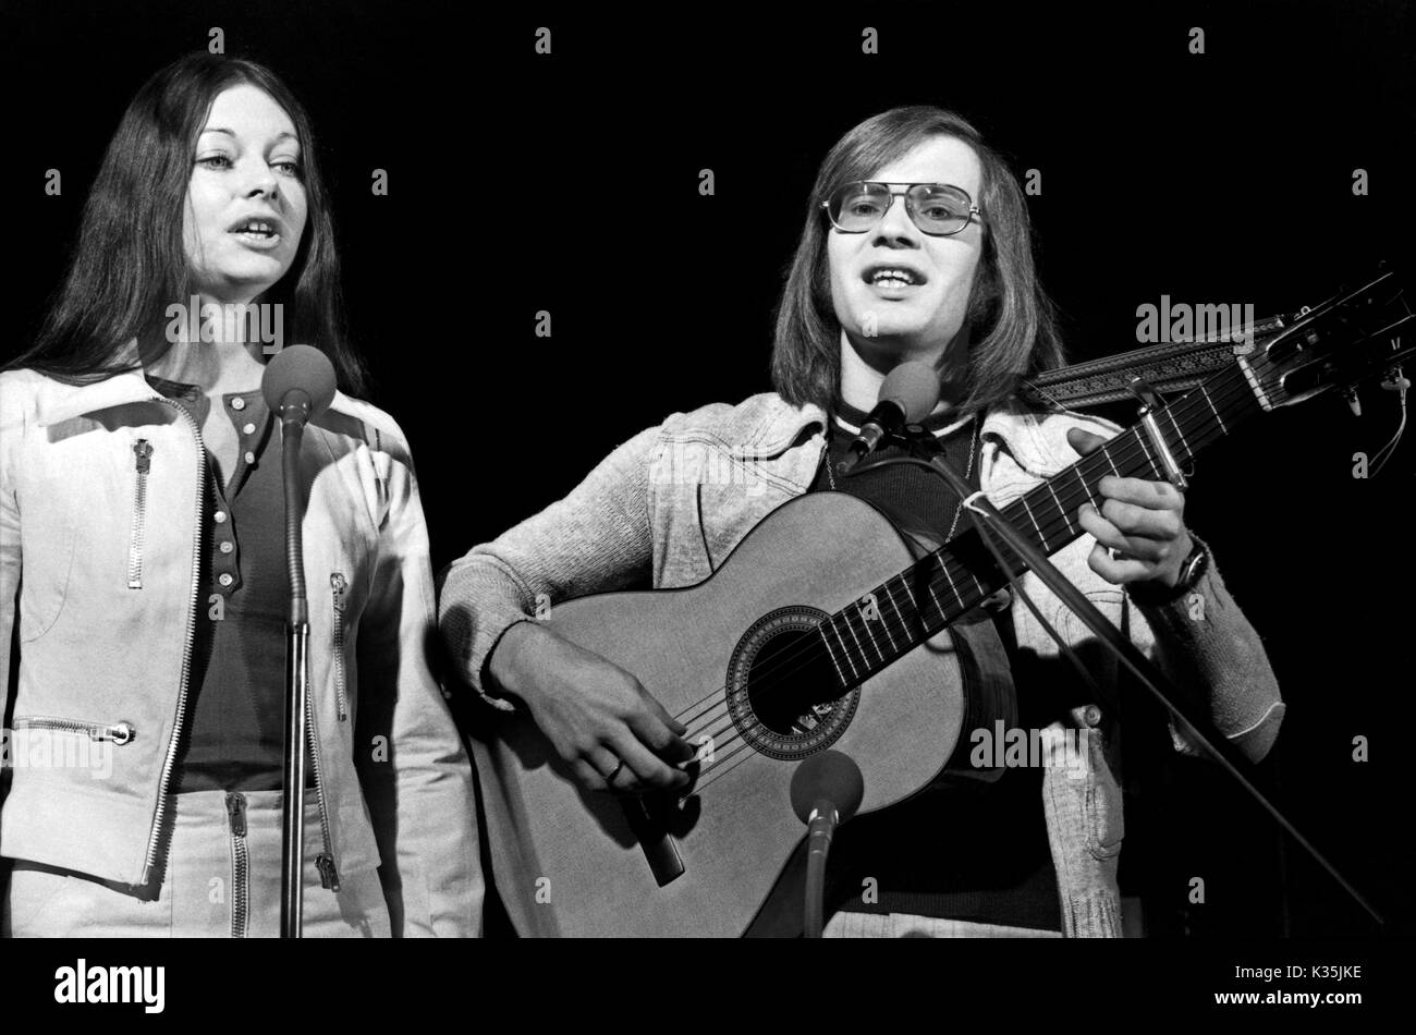
<svg viewBox="0 0 1416 1035"><path fill-rule="evenodd" d="M1410 258L1416 31L1399 3L194 7L6 0L0 358L37 327L127 101L219 25L228 54L270 64L314 119L355 344L372 401L412 443L435 568L640 428L767 388L816 166L893 105L956 109L1020 177L1041 170L1028 204L1073 358L1136 348L1136 307L1163 293L1269 316ZM861 52L865 25L878 55ZM48 168L59 197L44 194ZM371 194L374 168L388 197ZM551 338L532 333L538 310ZM1381 477L1352 477L1352 453L1375 454L1398 422L1393 394L1362 398L1362 419L1323 398L1202 459L1187 517L1289 701L1264 769L1402 927L1413 470L1403 445ZM1150 933L1376 930L1238 789L1171 757L1148 707L1136 715L1121 884L1144 896ZM1371 762L1351 757L1358 735Z"/></svg>

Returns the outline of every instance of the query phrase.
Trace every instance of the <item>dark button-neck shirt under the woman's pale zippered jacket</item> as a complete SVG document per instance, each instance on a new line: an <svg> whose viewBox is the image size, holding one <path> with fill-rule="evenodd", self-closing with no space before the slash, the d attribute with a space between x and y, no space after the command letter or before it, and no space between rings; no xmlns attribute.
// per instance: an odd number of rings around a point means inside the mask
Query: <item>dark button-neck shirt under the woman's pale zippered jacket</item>
<svg viewBox="0 0 1416 1035"><path fill-rule="evenodd" d="M149 375L201 426L211 401L195 385ZM278 790L285 783L285 558L280 436L261 391L221 405L239 438L229 487L208 452L201 504L197 639L177 793ZM313 786L313 772L307 779Z"/></svg>

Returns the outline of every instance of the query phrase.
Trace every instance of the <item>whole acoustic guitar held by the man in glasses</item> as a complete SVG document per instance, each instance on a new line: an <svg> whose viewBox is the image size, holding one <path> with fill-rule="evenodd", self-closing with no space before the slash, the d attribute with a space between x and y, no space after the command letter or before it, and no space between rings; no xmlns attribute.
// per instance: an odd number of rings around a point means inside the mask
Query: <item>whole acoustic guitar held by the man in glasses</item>
<svg viewBox="0 0 1416 1035"><path fill-rule="evenodd" d="M1181 464L1252 416L1349 389L1412 353L1391 272L1300 313L1154 409ZM1140 428L1034 487L1004 515L1045 554L1106 474L1163 480ZM1008 558L1015 573L1021 559ZM837 748L865 777L860 813L944 769L967 708L949 627L1005 585L977 532L919 556L868 503L809 493L772 511L707 581L558 605L551 627L629 673L701 743L687 797L582 790L525 709L474 735L491 879L535 936L739 936L767 902L803 827L796 763ZM874 595L878 616L860 606Z"/></svg>

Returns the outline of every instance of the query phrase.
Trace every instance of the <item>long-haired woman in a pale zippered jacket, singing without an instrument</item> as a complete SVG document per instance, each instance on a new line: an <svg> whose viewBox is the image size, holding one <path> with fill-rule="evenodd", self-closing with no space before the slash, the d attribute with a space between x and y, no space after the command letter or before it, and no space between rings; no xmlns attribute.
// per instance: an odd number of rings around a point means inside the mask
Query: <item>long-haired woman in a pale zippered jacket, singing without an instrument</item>
<svg viewBox="0 0 1416 1035"><path fill-rule="evenodd" d="M0 671L16 614L20 651L6 933L279 932L272 331L362 391L304 110L258 64L185 57L129 105L40 340L0 374ZM300 463L304 934L476 933L472 773L425 656L408 445L338 392Z"/></svg>

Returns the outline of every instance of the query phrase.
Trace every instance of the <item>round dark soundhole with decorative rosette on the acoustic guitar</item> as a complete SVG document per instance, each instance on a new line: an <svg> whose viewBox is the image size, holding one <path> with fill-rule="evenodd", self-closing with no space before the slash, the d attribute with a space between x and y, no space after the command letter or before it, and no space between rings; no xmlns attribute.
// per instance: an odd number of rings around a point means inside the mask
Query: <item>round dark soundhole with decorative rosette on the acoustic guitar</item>
<svg viewBox="0 0 1416 1035"><path fill-rule="evenodd" d="M775 759L797 759L834 743L860 704L840 694L814 607L782 607L759 619L728 665L728 714L742 739Z"/></svg>

